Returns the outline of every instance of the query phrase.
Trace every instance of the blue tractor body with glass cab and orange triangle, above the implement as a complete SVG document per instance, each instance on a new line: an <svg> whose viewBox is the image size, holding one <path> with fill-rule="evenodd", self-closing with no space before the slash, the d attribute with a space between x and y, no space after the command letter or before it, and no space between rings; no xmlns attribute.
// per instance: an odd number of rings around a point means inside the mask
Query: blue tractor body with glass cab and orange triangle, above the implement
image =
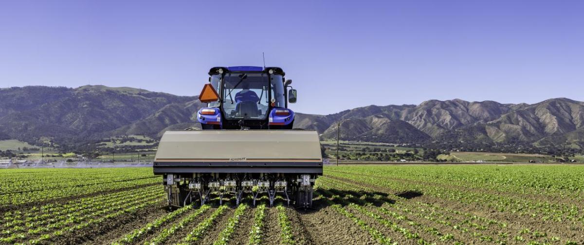
<svg viewBox="0 0 584 245"><path fill-rule="evenodd" d="M292 129L288 103L296 102L296 90L281 68L215 67L208 74L199 96L207 106L197 112L203 129Z"/></svg>

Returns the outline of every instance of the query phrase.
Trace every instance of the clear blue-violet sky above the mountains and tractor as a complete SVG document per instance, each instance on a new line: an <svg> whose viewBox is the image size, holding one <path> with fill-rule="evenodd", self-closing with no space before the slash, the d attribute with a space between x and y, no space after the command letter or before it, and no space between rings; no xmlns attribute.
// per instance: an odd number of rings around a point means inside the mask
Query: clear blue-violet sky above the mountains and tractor
<svg viewBox="0 0 584 245"><path fill-rule="evenodd" d="M584 101L584 1L2 1L0 87L197 95L280 66L295 111L461 98Z"/></svg>

